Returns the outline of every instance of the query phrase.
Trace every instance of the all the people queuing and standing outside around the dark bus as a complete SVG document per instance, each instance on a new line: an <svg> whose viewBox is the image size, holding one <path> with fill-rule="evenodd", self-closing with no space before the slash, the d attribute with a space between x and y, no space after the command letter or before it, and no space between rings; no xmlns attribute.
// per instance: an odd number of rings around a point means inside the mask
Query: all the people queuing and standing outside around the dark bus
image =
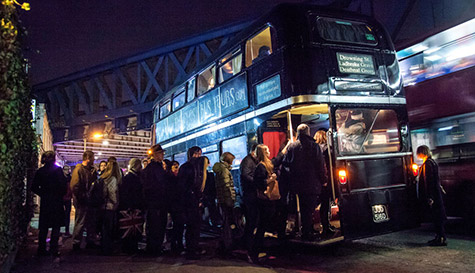
<svg viewBox="0 0 475 273"><path fill-rule="evenodd" d="M353 112L345 127L358 124L361 116ZM54 152L48 151L42 155L44 166L37 171L32 187L41 197L38 255L59 256L60 227L67 223L64 208L70 212L67 202L71 203L71 194L76 213L74 251L80 251L86 230L86 248L100 249L104 255L117 253L119 242L122 252L138 253L139 242L145 235L145 254L156 256L169 251L174 255L184 254L187 259L200 259L206 253L199 241L203 208L207 207L210 223L221 228L216 252L226 257L234 249L242 248L250 262L258 263L266 231L276 232L281 241L288 239L289 200L295 199L299 200L301 210L301 239L331 238L336 232L328 219L331 171L326 132L317 131L311 137L308 125L301 124L296 135L272 159L266 145L252 145L240 164L239 191L231 174L235 156L230 152L223 152L219 162L209 166L210 161L202 156L201 148L194 146L188 149L187 161L180 166L177 161L164 159L166 151L156 144L151 147L150 160L130 159L129 170L124 175L114 157L102 161L96 170L94 153L86 151L82 163L69 176L69 166L61 170L54 164ZM424 161L418 179L419 200L430 209L437 232L429 245L445 246L446 216L438 167L427 146L419 147L417 156ZM236 192L242 194L241 205ZM312 221L319 204L321 234L314 230ZM237 206L242 206L246 218L240 236L236 236ZM167 232L169 219L172 228ZM68 226L63 238L71 236ZM48 228L52 228L49 251Z"/></svg>

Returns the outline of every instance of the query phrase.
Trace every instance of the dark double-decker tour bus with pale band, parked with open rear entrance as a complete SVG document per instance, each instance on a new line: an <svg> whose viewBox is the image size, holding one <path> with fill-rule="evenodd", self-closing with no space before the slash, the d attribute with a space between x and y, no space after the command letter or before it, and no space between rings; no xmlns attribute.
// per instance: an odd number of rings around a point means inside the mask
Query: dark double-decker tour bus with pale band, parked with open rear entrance
<svg viewBox="0 0 475 273"><path fill-rule="evenodd" d="M357 117L364 127L359 136L345 130ZM324 128L337 240L418 223L396 51L373 18L311 4L279 5L157 99L154 122L153 141L170 159L183 163L195 145L211 164L223 152L233 153L238 193L238 167L253 143L269 146L273 157L300 123L312 135Z"/></svg>

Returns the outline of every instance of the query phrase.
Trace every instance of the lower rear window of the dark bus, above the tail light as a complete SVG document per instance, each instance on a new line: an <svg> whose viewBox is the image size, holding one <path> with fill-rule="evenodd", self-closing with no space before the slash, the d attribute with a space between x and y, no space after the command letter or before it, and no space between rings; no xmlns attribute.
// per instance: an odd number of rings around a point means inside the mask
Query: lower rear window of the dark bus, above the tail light
<svg viewBox="0 0 475 273"><path fill-rule="evenodd" d="M338 109L335 113L341 155L398 152L397 114L391 109Z"/></svg>

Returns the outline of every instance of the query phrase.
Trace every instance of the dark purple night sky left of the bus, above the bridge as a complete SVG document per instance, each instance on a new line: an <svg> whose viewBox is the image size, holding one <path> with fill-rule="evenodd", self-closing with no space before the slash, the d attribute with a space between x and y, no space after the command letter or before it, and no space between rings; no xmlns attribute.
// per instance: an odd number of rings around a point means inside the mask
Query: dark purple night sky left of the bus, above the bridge
<svg viewBox="0 0 475 273"><path fill-rule="evenodd" d="M278 0L29 1L21 19L37 84L267 12Z"/></svg>

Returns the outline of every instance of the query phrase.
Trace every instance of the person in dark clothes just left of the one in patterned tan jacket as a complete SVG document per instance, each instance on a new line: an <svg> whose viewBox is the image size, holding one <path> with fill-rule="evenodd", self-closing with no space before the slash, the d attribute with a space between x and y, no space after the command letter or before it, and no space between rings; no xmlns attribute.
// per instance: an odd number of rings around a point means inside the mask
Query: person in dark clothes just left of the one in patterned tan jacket
<svg viewBox="0 0 475 273"><path fill-rule="evenodd" d="M207 157L191 157L180 167L178 179L184 186L184 205L186 214L186 258L196 260L200 258L200 202L206 185Z"/></svg>

